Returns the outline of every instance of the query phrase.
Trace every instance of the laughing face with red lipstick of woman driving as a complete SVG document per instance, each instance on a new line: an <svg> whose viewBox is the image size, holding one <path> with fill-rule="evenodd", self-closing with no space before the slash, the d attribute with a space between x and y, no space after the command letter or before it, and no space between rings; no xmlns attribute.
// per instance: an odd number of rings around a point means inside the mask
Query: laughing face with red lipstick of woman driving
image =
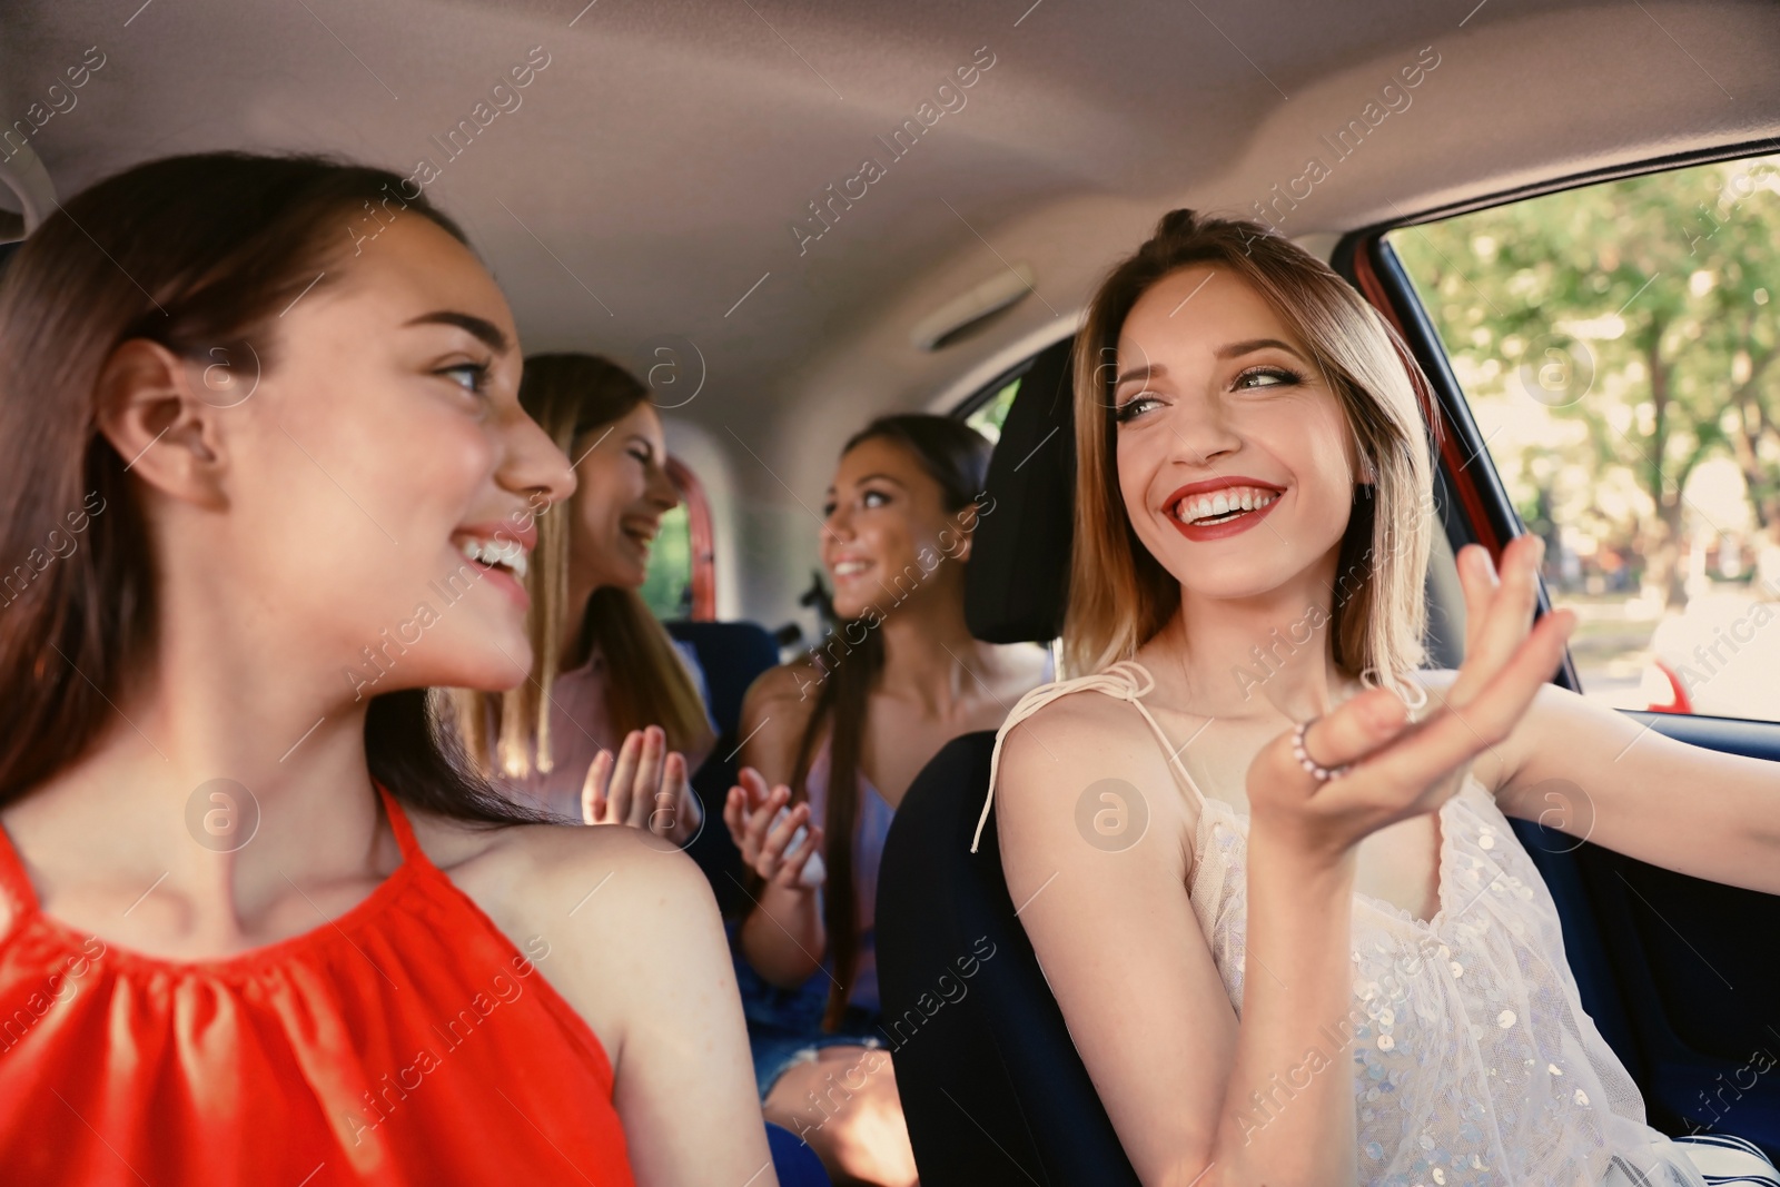
<svg viewBox="0 0 1780 1187"><path fill-rule="evenodd" d="M1145 548L1187 596L1301 585L1290 596L1314 602L1347 527L1356 452L1285 320L1235 274L1185 267L1132 306L1116 375L1118 484Z"/></svg>

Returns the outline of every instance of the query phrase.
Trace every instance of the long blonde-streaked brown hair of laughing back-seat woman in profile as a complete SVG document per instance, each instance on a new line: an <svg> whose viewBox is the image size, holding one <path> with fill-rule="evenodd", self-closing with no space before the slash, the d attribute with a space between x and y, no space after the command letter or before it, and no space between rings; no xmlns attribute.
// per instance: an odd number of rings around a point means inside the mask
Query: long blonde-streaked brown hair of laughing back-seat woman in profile
<svg viewBox="0 0 1780 1187"><path fill-rule="evenodd" d="M628 370L595 354L534 354L525 359L520 406L566 454L587 432L628 416L650 399L650 390ZM573 456L573 454L571 454ZM584 607L568 605L570 536L568 507L538 520L538 548L525 584L532 596L530 680L507 692L454 694L457 730L465 751L481 771L498 767L506 776L525 776L532 767L548 772L550 685L557 673L586 664L595 651L605 657L612 680L605 705L616 737L646 724L659 724L668 749L696 753L710 746L710 719L692 674L680 660L673 637L650 612L635 589L595 589ZM561 639L568 614L580 614L580 634L564 655ZM497 737L490 737L490 719Z"/></svg>

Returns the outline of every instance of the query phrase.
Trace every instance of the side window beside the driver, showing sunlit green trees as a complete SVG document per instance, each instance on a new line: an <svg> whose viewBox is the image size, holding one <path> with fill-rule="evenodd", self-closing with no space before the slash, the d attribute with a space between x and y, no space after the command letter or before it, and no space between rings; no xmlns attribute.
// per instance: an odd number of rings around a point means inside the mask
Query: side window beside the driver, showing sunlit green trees
<svg viewBox="0 0 1780 1187"><path fill-rule="evenodd" d="M1579 616L1582 692L1780 721L1780 155L1387 238Z"/></svg>

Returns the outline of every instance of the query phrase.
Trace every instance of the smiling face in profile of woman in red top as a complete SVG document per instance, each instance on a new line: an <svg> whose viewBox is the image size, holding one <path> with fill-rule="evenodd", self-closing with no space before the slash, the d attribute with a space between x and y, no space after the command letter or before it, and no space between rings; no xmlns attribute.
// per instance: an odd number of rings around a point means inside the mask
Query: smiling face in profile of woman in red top
<svg viewBox="0 0 1780 1187"><path fill-rule="evenodd" d="M424 217L328 271L276 322L251 399L219 413L222 539L169 532L171 562L214 548L224 605L299 630L306 655L376 680L367 694L511 687L530 646L509 569L573 475L520 409L507 303Z"/></svg>

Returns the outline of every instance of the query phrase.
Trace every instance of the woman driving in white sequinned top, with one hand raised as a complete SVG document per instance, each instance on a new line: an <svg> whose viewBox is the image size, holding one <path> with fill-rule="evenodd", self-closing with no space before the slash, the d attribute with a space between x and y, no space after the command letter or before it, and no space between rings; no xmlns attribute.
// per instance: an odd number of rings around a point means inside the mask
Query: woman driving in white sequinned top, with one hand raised
<svg viewBox="0 0 1780 1187"><path fill-rule="evenodd" d="M1780 893L1773 763L1549 685L1574 619L1529 628L1533 537L1461 550L1465 664L1420 667L1408 354L1299 247L1177 210L1077 343L1075 678L1009 714L991 795L1139 1178L1769 1182L1645 1123L1506 817L1568 779L1595 844Z"/></svg>

